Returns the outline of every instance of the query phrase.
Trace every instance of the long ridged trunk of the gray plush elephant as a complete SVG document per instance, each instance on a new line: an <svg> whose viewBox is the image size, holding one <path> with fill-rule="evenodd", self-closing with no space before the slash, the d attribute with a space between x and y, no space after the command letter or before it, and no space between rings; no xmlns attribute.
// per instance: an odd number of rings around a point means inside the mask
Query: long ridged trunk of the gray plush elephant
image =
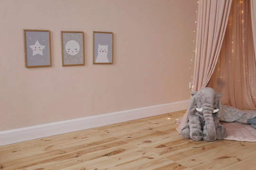
<svg viewBox="0 0 256 170"><path fill-rule="evenodd" d="M216 128L212 113L214 108L212 104L204 103L202 105L202 114L205 120L205 125L203 127L203 138L206 141L215 141L217 139Z"/></svg>

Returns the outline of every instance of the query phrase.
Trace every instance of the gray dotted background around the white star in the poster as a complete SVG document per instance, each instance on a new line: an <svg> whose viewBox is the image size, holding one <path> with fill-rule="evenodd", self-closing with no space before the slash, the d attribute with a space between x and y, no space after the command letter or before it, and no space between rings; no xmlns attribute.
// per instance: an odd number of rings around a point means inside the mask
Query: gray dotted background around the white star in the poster
<svg viewBox="0 0 256 170"><path fill-rule="evenodd" d="M49 53L49 36L45 31L26 31L26 51L27 51L27 66L47 66L50 65ZM35 45L36 42L40 45L45 45L43 49L43 56L36 54L33 56L33 50L29 47Z"/></svg>

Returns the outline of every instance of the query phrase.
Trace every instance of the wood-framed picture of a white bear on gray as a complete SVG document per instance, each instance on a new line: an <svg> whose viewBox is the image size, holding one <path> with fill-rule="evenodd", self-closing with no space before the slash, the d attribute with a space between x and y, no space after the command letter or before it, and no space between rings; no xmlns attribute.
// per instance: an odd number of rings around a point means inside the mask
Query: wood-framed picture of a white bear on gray
<svg viewBox="0 0 256 170"><path fill-rule="evenodd" d="M93 31L93 64L113 64L113 33Z"/></svg>

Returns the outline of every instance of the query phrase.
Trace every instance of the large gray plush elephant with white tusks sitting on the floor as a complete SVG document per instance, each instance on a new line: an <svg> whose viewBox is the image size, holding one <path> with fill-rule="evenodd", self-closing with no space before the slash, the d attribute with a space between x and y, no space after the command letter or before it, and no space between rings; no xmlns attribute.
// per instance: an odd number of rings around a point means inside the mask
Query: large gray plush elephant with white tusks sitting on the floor
<svg viewBox="0 0 256 170"><path fill-rule="evenodd" d="M220 140L226 136L226 128L219 124L222 94L214 92L210 87L202 88L197 92L191 92L192 98L188 108L189 121L182 129L184 138L192 138L195 141Z"/></svg>

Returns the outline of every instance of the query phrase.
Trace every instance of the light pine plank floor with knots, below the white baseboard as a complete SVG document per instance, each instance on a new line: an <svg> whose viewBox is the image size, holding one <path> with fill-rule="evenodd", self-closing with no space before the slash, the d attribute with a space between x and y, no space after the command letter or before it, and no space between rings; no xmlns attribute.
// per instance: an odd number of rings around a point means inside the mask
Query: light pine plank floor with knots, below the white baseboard
<svg viewBox="0 0 256 170"><path fill-rule="evenodd" d="M256 143L184 139L184 111L0 147L4 170L256 170Z"/></svg>

